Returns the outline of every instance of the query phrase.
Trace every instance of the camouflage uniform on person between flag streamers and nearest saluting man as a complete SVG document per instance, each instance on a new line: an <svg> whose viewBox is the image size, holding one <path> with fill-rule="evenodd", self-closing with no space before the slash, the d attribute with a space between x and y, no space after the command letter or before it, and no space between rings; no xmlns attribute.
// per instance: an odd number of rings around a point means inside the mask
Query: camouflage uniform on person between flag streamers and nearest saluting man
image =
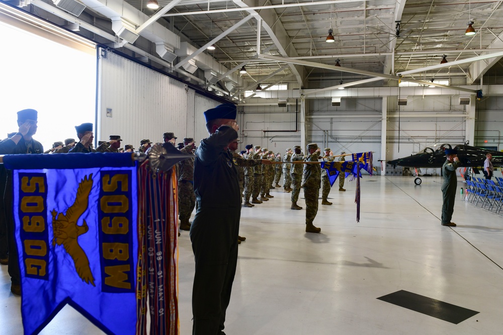
<svg viewBox="0 0 503 335"><path fill-rule="evenodd" d="M192 146L186 146L180 152L192 155ZM194 157L181 160L178 165L178 204L180 229L189 230L189 219L196 206L196 195L194 194ZM187 228L187 229L186 229Z"/></svg>

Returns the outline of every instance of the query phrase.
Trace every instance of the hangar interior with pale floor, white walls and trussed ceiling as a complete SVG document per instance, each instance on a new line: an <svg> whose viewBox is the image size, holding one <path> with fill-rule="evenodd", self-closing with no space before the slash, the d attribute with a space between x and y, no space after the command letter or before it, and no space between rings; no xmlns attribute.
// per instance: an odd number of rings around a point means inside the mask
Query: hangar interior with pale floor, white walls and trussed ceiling
<svg viewBox="0 0 503 335"><path fill-rule="evenodd" d="M362 182L359 223L354 183L347 181L346 193L332 190L334 206L320 206L316 236L304 234L304 212L290 210L289 194L279 190L242 210L248 239L239 250L228 333L500 331L500 216L460 197L458 227L441 227L439 169L424 171L433 177L417 187L387 177L377 161L434 143L500 150L501 1L162 0L151 9L152 2L0 0L0 23L94 50L96 141L119 133L134 144L160 142L166 131L199 141L207 136L202 112L231 101L239 149L283 153L316 142L334 152L373 151L382 175ZM470 27L475 34L466 35ZM37 75L14 64L20 76ZM57 101L56 91L48 99ZM193 276L187 233L180 249L185 334ZM0 278L3 327L22 333L20 300L3 266ZM454 324L376 300L397 290L480 314ZM100 333L70 307L42 333L61 327Z"/></svg>

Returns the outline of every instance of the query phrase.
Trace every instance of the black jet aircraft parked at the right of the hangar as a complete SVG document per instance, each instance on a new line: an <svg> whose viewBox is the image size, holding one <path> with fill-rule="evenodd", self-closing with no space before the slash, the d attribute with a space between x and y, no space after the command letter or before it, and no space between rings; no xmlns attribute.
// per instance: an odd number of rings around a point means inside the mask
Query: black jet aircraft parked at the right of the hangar
<svg viewBox="0 0 503 335"><path fill-rule="evenodd" d="M482 148L477 148L475 146L469 146L468 142L465 144L456 144L451 146L451 144L435 144L430 147L425 148L416 154L402 157L394 160L388 160L387 163L393 166L407 166L407 167L442 167L444 164L445 149L456 149L458 150L458 157L461 161L460 166L463 167L477 167L484 166L484 160L486 154L490 153L492 155L492 165L503 166L503 152L487 150ZM416 170L416 179L414 183L416 185L421 184L421 178L418 177Z"/></svg>

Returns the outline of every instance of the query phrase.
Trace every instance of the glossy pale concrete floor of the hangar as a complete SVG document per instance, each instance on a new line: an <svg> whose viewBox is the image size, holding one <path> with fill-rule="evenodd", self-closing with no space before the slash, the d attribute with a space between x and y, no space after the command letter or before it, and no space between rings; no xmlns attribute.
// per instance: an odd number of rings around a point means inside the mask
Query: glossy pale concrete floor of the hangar
<svg viewBox="0 0 503 335"><path fill-rule="evenodd" d="M305 233L305 211L290 194L243 208L237 273L227 310L229 334L495 334L503 333L503 220L462 201L440 225L440 177L362 180L356 222L356 182L331 190ZM461 180L459 188L465 188ZM298 204L305 207L301 192ZM320 201L321 202L321 201ZM180 328L191 333L194 258L188 232L180 241ZM450 323L376 298L406 290L480 313ZM0 333L21 334L20 298L0 266ZM42 334L102 333L66 306Z"/></svg>

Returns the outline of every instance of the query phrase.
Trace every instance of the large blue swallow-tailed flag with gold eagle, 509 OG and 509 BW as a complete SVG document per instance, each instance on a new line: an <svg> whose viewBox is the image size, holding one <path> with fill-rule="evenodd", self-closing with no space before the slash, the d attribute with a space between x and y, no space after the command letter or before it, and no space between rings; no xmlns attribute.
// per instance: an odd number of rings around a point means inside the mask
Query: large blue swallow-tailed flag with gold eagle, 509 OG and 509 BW
<svg viewBox="0 0 503 335"><path fill-rule="evenodd" d="M7 155L23 327L38 333L66 304L106 333L137 323L137 174L129 154ZM26 169L29 166L29 169Z"/></svg>

